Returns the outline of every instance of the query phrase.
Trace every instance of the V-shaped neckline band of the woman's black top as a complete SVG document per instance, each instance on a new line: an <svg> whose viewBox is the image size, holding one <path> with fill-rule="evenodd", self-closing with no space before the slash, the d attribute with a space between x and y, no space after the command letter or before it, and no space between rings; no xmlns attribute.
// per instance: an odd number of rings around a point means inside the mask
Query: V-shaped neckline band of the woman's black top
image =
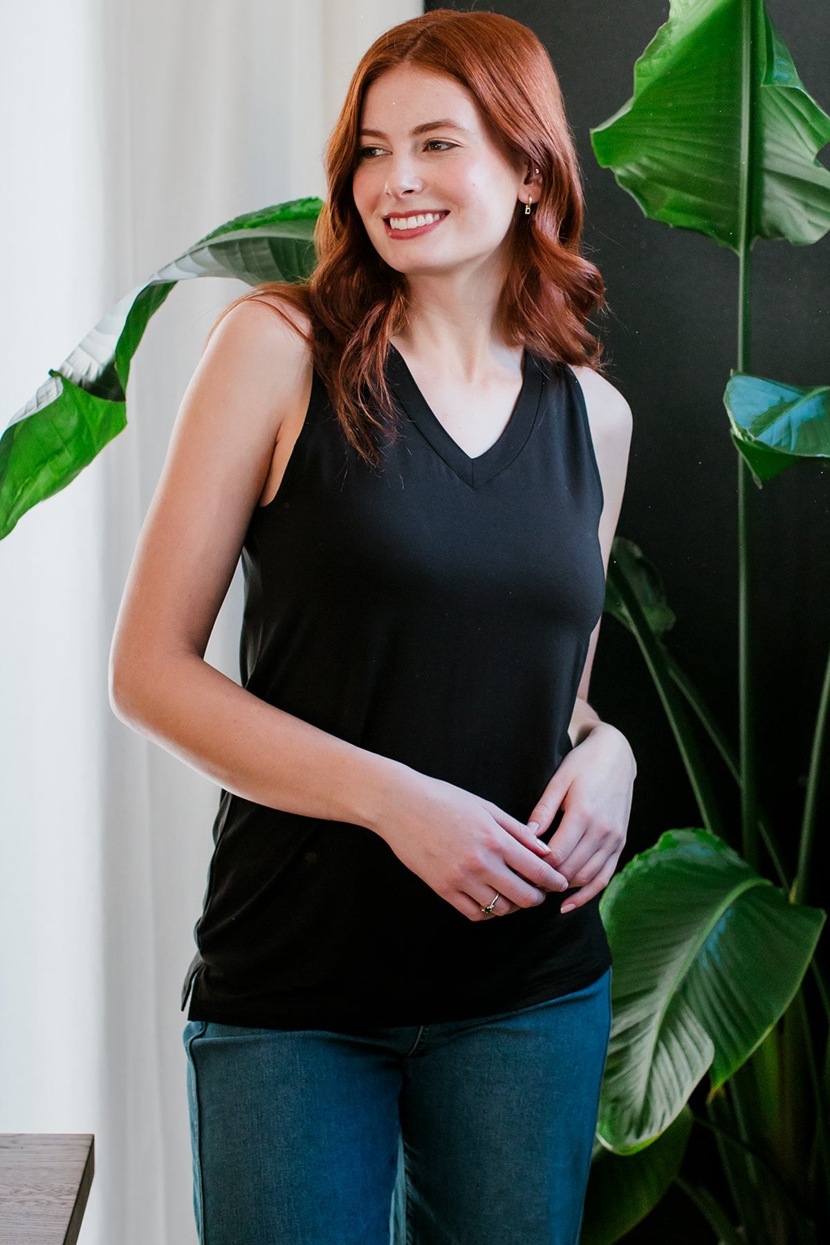
<svg viewBox="0 0 830 1245"><path fill-rule="evenodd" d="M436 453L465 484L469 484L470 488L485 484L516 458L535 423L544 381L543 371L530 350L525 347L524 351L521 388L510 412L510 418L490 448L477 454L475 458L470 458L450 437L421 392L406 359L392 342L389 342L388 360L391 364L389 380L406 412Z"/></svg>

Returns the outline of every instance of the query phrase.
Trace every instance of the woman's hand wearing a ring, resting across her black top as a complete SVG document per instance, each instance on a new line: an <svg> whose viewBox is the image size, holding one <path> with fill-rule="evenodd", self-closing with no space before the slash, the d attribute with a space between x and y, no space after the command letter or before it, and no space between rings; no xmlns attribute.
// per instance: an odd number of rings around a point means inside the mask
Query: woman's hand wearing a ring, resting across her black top
<svg viewBox="0 0 830 1245"><path fill-rule="evenodd" d="M548 864L533 830L489 799L414 769L370 827L397 858L472 921L544 903L569 881ZM492 914L482 909L495 891Z"/></svg>

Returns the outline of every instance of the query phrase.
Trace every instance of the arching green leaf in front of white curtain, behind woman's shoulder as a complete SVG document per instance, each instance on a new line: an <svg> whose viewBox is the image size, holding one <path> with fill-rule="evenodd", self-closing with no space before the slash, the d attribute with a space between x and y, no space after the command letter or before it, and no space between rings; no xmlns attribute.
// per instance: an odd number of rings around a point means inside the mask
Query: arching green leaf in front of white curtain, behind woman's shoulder
<svg viewBox="0 0 830 1245"><path fill-rule="evenodd" d="M249 285L305 279L316 263L321 207L320 199L294 199L226 222L137 285L49 370L50 380L0 437L0 539L126 427L132 357L173 286L194 276L235 276Z"/></svg>

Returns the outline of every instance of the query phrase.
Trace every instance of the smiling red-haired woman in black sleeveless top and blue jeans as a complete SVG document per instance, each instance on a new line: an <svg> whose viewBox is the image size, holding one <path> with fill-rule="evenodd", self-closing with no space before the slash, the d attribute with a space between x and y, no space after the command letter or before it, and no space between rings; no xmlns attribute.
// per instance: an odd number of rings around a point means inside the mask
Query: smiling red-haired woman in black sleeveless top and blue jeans
<svg viewBox="0 0 830 1245"><path fill-rule="evenodd" d="M326 168L311 281L212 330L113 641L119 716L223 788L199 1236L388 1241L401 1144L409 1241L571 1245L636 772L586 701L631 412L544 47L387 31ZM240 554L241 687L204 662Z"/></svg>

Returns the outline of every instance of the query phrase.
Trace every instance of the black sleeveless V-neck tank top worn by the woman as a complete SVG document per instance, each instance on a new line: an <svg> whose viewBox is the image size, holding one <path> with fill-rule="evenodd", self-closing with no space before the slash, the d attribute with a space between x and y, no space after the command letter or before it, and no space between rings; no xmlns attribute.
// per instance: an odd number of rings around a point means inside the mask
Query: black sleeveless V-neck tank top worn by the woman
<svg viewBox="0 0 830 1245"><path fill-rule="evenodd" d="M387 378L399 433L377 468L314 374L241 550L241 684L526 822L571 748L605 600L582 391L526 350L504 432L470 458L394 347ZM213 837L189 1020L343 1033L463 1020L579 990L611 964L600 895L562 914L571 888L472 921L366 827L224 788Z"/></svg>

